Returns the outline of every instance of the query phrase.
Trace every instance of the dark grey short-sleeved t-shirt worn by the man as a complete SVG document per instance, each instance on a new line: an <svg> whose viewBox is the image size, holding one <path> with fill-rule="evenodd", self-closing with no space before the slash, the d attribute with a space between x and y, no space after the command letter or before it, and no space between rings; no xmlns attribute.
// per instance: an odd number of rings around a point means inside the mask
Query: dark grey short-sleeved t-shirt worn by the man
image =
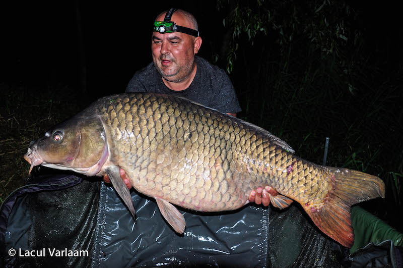
<svg viewBox="0 0 403 268"><path fill-rule="evenodd" d="M234 87L224 70L195 57L196 75L190 86L181 91L169 89L162 81L154 63L136 72L127 85L126 92L155 92L173 94L201 103L224 113L239 113L241 108Z"/></svg>

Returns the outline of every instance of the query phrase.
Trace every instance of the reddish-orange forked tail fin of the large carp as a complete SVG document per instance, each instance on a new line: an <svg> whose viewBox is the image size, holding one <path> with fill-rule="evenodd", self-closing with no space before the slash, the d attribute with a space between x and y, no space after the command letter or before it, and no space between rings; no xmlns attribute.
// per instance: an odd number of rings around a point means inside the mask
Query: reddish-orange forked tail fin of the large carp
<svg viewBox="0 0 403 268"><path fill-rule="evenodd" d="M345 247L354 244L350 206L358 202L385 196L381 179L363 172L328 168L334 174L334 190L320 209L302 205L315 225Z"/></svg>

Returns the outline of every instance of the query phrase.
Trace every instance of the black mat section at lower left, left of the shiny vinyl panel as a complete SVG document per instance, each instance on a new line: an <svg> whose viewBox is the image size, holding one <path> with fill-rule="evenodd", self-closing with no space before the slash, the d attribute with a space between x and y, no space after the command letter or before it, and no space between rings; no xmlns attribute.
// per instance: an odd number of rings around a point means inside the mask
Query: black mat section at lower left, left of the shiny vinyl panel
<svg viewBox="0 0 403 268"><path fill-rule="evenodd" d="M92 252L100 182L72 175L47 175L31 179L29 183L11 194L0 211L4 265L87 266L90 256L86 260L49 255L64 249ZM16 250L14 256L10 256L11 249ZM26 250L34 250L33 254L38 256L20 256Z"/></svg>

